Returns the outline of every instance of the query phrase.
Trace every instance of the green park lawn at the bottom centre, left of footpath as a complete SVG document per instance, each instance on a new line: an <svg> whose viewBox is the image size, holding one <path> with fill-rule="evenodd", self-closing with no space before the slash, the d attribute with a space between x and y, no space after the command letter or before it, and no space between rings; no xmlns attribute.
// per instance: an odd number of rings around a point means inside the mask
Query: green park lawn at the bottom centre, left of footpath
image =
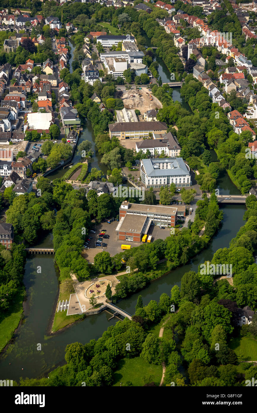
<svg viewBox="0 0 257 413"><path fill-rule="evenodd" d="M162 374L162 366L150 364L141 357L123 358L119 361L117 370L114 373L113 386L120 386L120 382L125 384L127 381L132 382L132 385L135 387L144 386L144 376L152 376L151 381L159 385Z"/></svg>

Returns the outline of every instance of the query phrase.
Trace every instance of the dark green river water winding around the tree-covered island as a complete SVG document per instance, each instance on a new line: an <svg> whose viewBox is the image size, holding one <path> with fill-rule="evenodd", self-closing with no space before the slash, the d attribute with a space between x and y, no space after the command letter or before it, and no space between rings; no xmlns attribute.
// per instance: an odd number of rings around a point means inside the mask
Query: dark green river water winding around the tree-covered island
<svg viewBox="0 0 257 413"><path fill-rule="evenodd" d="M167 80L169 71L164 62L159 59L158 63L159 74L163 82L169 81ZM179 88L174 88L173 99L181 102L183 106L185 105L185 102L180 97ZM94 133L90 122L86 123L80 142L85 139L90 140L94 146ZM215 155L215 152L212 153L213 160L216 160ZM90 167L97 167L106 173L106 169L102 165L99 168L100 159L101 155L94 154L94 157L90 160ZM80 155L75 152L73 162L78 161L80 161ZM51 179L59 178L63 173L63 170L60 170L49 177ZM226 171L222 172L218 180L218 187L221 193L236 194L239 192L229 179ZM181 278L186 271L197 271L198 265L205 260L211 260L217 249L229 247L230 240L235 237L240 226L244 224L243 214L245 206L222 205L222 210L224 212L222 228L213 237L207 249L198 254L187 265L171 271L162 278L151 282L144 290L120 301L118 306L133 314L139 294L143 296L144 305L151 299L158 301L163 292L169 294L175 284L180 284ZM49 234L38 246L52 247L52 234ZM41 266L40 274L37 273L38 266ZM58 365L65 363L64 354L67 344L75 341L84 344L90 341L90 339L97 339L108 326L116 323L115 319L108 321L108 313L101 313L87 316L84 320L69 326L55 335L49 336L47 335L47 330L58 291L58 268L54 264L54 256L28 256L25 266L24 284L28 294L28 299L25 302L24 322L15 335L14 344L11 344L0 357L1 377L19 380L19 377L45 376ZM42 350L37 350L38 344L41 344Z"/></svg>

